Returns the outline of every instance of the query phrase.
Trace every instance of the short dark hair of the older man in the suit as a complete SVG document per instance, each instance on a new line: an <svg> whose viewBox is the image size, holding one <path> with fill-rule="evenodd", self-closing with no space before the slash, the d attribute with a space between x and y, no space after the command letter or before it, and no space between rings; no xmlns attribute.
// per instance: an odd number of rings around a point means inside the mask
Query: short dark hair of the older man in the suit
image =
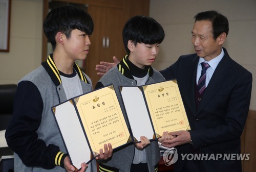
<svg viewBox="0 0 256 172"><path fill-rule="evenodd" d="M228 19L217 11L204 11L198 13L195 17L195 22L200 20L209 20L212 23L212 34L216 40L223 32L228 34Z"/></svg>

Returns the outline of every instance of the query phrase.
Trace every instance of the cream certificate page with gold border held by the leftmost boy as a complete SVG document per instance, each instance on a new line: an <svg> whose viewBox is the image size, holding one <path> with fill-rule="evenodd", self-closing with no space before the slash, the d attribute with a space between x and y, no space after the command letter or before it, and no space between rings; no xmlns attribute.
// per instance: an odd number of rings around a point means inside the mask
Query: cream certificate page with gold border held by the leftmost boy
<svg viewBox="0 0 256 172"><path fill-rule="evenodd" d="M113 85L75 98L82 126L95 155L111 143L115 149L129 142L130 133Z"/></svg>

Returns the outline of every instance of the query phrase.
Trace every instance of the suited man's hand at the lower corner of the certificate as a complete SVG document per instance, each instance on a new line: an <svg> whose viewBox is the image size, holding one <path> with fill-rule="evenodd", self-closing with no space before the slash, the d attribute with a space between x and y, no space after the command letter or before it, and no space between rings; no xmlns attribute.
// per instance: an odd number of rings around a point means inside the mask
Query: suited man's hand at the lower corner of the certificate
<svg viewBox="0 0 256 172"><path fill-rule="evenodd" d="M191 140L190 133L188 131L169 132L169 134L173 135L175 138L164 140L162 142L162 145L167 148L173 148L177 145L188 143Z"/></svg>

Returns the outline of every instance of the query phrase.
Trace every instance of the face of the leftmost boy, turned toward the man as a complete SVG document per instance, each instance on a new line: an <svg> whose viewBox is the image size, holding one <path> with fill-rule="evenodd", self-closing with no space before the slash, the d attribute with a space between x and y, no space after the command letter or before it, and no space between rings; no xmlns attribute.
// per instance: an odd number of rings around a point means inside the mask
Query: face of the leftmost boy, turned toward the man
<svg viewBox="0 0 256 172"><path fill-rule="evenodd" d="M73 60L84 60L89 53L91 41L89 36L78 29L71 32L70 38L66 38L65 50L68 57Z"/></svg>

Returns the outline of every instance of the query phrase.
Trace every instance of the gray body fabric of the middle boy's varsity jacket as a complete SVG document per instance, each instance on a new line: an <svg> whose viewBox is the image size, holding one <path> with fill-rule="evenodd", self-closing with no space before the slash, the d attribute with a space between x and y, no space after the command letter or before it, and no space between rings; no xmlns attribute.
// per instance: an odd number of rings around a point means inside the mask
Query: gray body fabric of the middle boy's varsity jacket
<svg viewBox="0 0 256 172"><path fill-rule="evenodd" d="M150 78L148 78L145 85L165 81L164 77L161 75L159 71L157 71L154 68L152 69L153 75L151 75ZM113 84L119 101L121 101L121 95L118 86L136 86L136 80L129 79L122 75L122 73L118 70L117 67L112 68L108 73L101 77L101 79L98 82L101 82L104 86ZM122 105L121 109L124 112L124 107ZM145 149L148 169L150 172L154 172L155 166L158 164L160 160L158 141L151 141L151 144L147 146ZM118 151L114 151L112 158L110 158L110 160L98 161L98 163L118 168L119 172L130 172L134 153L135 145L130 144L128 146L125 146L124 148L118 149Z"/></svg>

